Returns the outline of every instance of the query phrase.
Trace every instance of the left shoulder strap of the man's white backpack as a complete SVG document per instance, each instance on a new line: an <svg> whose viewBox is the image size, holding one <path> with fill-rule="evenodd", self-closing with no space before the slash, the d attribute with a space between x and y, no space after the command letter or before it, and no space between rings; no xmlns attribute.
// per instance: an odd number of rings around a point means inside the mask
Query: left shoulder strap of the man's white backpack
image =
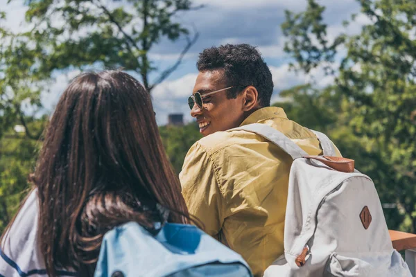
<svg viewBox="0 0 416 277"><path fill-rule="evenodd" d="M228 131L238 130L252 132L258 134L259 136L263 136L264 139L267 139L268 141L275 143L275 145L279 146L279 148L284 150L284 152L291 155L293 159L301 158L308 155L308 153L306 153L304 150L302 150L302 148L297 146L297 144L294 143L287 136L281 134L281 132L277 131L277 129L272 128L266 124L254 123L237 127L234 129L229 129Z"/></svg>

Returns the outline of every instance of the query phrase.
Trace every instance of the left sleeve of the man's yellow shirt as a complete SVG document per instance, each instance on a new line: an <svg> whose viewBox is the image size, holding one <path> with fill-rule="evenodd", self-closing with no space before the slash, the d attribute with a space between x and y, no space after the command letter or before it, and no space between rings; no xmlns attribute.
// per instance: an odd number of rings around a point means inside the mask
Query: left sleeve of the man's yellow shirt
<svg viewBox="0 0 416 277"><path fill-rule="evenodd" d="M216 166L199 143L189 150L179 177L189 213L204 224L206 233L217 237L224 222L223 195L218 187Z"/></svg>

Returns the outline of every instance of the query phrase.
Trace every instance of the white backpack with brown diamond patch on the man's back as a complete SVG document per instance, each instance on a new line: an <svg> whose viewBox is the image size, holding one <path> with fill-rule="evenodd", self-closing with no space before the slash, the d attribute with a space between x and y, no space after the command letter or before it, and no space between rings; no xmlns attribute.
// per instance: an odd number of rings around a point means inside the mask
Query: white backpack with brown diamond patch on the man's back
<svg viewBox="0 0 416 277"><path fill-rule="evenodd" d="M310 157L268 125L236 129L263 136L294 159L284 255L266 269L265 277L411 276L392 247L374 183L354 169L354 161L333 157L333 144L327 136L315 132L324 156Z"/></svg>

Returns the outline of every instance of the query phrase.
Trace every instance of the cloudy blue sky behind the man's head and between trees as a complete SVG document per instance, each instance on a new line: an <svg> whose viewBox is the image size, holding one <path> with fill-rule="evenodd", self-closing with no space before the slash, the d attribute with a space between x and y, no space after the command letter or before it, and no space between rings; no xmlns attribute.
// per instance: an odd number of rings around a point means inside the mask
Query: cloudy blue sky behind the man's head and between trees
<svg viewBox="0 0 416 277"><path fill-rule="evenodd" d="M110 0L104 0L110 2ZM319 0L318 0L319 1ZM200 37L190 49L177 71L153 90L153 105L157 113L157 122L166 123L169 113L183 113L190 121L187 97L191 94L198 71L196 60L203 48L226 43L248 43L259 48L270 66L275 84L272 100L277 100L279 91L295 84L315 80L318 85L329 84L332 79L316 70L311 75L295 74L288 71L290 58L283 51L284 37L280 25L284 21L284 10L299 12L306 8L306 0L195 0L196 5L205 4L205 8L186 12L175 20L196 28ZM328 24L328 37L335 37L343 30L342 22L354 12L359 12L356 0L320 0L327 7L324 19ZM121 2L122 3L122 2ZM19 31L27 26L24 23L26 8L22 0L0 0L0 9L7 12L6 26ZM358 17L355 24L349 26L348 33L357 33L364 18ZM154 64L166 69L173 64L182 51L184 40L175 43L162 41L150 52ZM53 107L67 85L67 81L78 74L78 70L58 71L49 93L44 93L42 102L48 111ZM151 77L155 78L157 72Z"/></svg>

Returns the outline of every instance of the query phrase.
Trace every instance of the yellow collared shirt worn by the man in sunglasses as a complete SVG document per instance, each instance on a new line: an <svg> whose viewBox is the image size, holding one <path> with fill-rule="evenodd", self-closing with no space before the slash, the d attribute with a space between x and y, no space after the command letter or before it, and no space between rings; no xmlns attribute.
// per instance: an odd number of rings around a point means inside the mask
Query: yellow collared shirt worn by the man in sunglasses
<svg viewBox="0 0 416 277"><path fill-rule="evenodd" d="M315 134L288 120L281 108L261 108L241 125L250 123L274 127L308 154L322 154ZM244 131L206 136L184 160L180 181L189 213L202 221L209 235L240 253L254 276L262 276L284 252L292 162L276 145Z"/></svg>

